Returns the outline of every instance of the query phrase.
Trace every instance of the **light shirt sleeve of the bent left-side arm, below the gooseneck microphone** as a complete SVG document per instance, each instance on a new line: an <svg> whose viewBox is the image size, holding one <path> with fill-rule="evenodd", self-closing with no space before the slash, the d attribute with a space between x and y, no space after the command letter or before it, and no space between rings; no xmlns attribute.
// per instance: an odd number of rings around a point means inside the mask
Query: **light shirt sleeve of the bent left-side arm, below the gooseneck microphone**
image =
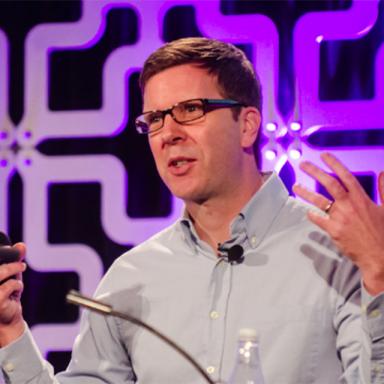
<svg viewBox="0 0 384 384"><path fill-rule="evenodd" d="M66 371L54 375L30 330L0 349L6 384L133 384L136 377L114 318L84 312Z"/></svg>

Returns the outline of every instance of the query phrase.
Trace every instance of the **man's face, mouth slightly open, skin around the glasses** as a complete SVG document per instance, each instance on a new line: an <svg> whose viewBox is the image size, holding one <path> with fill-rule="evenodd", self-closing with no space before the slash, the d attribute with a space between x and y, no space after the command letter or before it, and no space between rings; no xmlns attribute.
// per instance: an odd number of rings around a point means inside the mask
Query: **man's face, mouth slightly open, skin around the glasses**
<svg viewBox="0 0 384 384"><path fill-rule="evenodd" d="M179 65L148 80L143 110L163 110L196 98L224 97L216 78L205 69ZM157 170L171 192L196 203L230 196L243 166L242 129L242 119L235 121L231 108L208 112L188 125L166 115L163 128L149 136L149 144Z"/></svg>

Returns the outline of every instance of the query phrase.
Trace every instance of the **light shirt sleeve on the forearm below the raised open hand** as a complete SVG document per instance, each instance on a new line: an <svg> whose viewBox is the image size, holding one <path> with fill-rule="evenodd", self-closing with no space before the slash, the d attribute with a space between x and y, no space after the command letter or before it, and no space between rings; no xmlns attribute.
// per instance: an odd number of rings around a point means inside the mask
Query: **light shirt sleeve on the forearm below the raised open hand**
<svg viewBox="0 0 384 384"><path fill-rule="evenodd" d="M344 258L335 273L336 347L343 384L384 383L384 293L370 296L356 266Z"/></svg>

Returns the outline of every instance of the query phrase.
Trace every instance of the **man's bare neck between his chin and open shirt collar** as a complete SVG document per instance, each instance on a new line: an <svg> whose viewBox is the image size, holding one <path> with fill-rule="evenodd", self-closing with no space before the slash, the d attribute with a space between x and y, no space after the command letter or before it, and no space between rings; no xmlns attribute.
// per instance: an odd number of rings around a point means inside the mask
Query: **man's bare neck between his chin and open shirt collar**
<svg viewBox="0 0 384 384"><path fill-rule="evenodd" d="M216 196L204 202L185 202L200 239L215 251L219 243L230 238L231 222L261 187L262 176L259 172L251 180L251 184L234 187L227 195Z"/></svg>

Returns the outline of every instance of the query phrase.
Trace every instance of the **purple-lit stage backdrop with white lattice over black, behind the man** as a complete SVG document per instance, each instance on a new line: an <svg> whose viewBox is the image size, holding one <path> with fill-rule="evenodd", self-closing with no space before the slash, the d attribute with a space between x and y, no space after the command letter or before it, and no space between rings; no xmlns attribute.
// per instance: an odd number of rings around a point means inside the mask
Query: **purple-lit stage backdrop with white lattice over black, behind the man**
<svg viewBox="0 0 384 384"><path fill-rule="evenodd" d="M133 121L145 58L186 36L253 62L263 169L316 188L298 162L331 150L377 199L384 1L0 1L0 230L28 245L25 317L56 369L78 329L66 292L180 213Z"/></svg>

